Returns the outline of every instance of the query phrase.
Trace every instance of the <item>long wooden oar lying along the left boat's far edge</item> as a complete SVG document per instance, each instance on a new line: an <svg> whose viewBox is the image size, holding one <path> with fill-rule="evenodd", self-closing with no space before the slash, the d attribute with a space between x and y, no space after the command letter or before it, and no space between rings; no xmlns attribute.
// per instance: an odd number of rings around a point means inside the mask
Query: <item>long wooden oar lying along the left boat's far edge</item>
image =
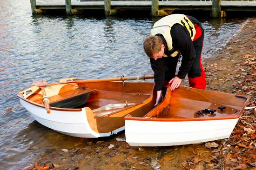
<svg viewBox="0 0 256 170"><path fill-rule="evenodd" d="M60 82L60 83L51 83L51 84L40 84L34 83L35 86L50 86L50 85L61 85L61 84L68 84L68 83L94 83L94 82L107 82L107 81L124 81L124 80L145 80L154 78L154 75L142 75L142 76L131 76L131 77L120 77L120 78L101 78L101 79L92 79L92 80L74 80L74 81L67 81L67 82Z"/></svg>

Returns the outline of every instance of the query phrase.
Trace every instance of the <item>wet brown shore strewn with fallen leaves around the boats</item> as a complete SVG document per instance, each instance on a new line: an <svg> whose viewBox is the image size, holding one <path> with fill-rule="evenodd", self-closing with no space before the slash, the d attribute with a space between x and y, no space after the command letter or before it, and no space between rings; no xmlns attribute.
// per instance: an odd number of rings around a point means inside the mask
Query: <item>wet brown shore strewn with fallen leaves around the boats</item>
<svg viewBox="0 0 256 170"><path fill-rule="evenodd" d="M207 148L205 143L169 147L132 147L125 142L124 132L98 139L71 138L63 135L62 141L65 143L60 144L61 148L46 149L40 159L24 169L40 170L42 167L44 170L255 169L255 28L256 18L249 18L227 45L216 53L215 58L203 60L208 82L207 89L251 97L231 137L212 141L216 143L213 144L216 145L215 148ZM187 81L183 84L187 84ZM48 136L54 136L55 133L49 132Z"/></svg>

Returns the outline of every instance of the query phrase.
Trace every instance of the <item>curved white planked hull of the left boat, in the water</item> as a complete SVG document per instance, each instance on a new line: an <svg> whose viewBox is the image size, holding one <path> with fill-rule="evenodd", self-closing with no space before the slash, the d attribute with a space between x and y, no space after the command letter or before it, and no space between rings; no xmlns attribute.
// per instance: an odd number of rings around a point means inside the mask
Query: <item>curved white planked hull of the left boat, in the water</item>
<svg viewBox="0 0 256 170"><path fill-rule="evenodd" d="M97 133L93 131L88 123L85 108L82 108L81 111L51 110L51 113L47 114L43 107L30 104L22 99L20 99L20 103L37 122L69 136L88 138L108 137L124 130L124 127L121 127L108 133Z"/></svg>

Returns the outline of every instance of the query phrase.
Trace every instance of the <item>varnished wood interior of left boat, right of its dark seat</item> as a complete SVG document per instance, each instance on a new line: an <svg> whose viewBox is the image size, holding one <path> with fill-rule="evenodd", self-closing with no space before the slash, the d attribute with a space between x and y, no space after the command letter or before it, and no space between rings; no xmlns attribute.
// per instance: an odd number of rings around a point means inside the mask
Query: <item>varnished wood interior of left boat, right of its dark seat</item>
<svg viewBox="0 0 256 170"><path fill-rule="evenodd" d="M85 107L93 110L96 116L111 115L118 111L140 105L144 101L152 100L153 83L106 82L81 84L88 88L95 88L97 92L91 93Z"/></svg>

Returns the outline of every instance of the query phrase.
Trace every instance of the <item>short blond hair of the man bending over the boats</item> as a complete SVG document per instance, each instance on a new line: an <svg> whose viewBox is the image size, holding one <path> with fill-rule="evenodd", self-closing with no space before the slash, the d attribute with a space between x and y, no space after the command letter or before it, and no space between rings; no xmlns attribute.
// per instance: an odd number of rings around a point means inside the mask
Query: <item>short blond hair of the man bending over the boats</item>
<svg viewBox="0 0 256 170"><path fill-rule="evenodd" d="M155 35L146 37L143 43L143 48L148 57L153 57L153 54L160 52L163 40Z"/></svg>

